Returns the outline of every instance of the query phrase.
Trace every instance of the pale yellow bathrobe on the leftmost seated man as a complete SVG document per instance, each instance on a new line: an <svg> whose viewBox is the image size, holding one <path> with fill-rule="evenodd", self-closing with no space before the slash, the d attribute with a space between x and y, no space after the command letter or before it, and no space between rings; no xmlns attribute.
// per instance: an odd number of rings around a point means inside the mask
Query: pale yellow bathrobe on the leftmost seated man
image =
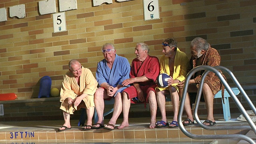
<svg viewBox="0 0 256 144"><path fill-rule="evenodd" d="M60 109L69 114L74 114L74 110L94 107L94 93L97 89L97 85L98 82L88 68L84 68L82 66L80 86L78 86L72 72L66 72L62 82L62 88L60 90L60 102L62 102ZM64 102L64 100L68 97L74 100L76 96L80 96L81 94L88 94L88 96L86 96L86 98L83 99L84 102L81 102L77 107L74 105L68 105L66 102Z"/></svg>

